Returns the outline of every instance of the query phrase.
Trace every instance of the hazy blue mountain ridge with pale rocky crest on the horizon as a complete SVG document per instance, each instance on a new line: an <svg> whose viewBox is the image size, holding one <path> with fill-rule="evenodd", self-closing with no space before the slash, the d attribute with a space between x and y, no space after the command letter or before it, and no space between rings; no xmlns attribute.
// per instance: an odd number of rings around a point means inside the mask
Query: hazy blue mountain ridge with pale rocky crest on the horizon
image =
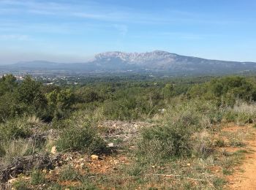
<svg viewBox="0 0 256 190"><path fill-rule="evenodd" d="M165 74L228 74L256 71L256 63L218 61L155 50L148 53L106 52L99 53L85 63L54 63L29 61L0 66L5 70L62 70L67 72L158 72Z"/></svg>

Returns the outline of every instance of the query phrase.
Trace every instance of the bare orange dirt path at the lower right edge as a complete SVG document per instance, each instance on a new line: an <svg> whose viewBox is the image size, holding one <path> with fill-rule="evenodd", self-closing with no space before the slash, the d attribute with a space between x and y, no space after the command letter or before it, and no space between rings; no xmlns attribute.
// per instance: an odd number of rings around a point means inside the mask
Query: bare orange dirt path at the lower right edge
<svg viewBox="0 0 256 190"><path fill-rule="evenodd" d="M250 153L246 154L243 164L228 178L228 189L256 190L256 129L250 128L255 136L253 140L246 141L246 150Z"/></svg>

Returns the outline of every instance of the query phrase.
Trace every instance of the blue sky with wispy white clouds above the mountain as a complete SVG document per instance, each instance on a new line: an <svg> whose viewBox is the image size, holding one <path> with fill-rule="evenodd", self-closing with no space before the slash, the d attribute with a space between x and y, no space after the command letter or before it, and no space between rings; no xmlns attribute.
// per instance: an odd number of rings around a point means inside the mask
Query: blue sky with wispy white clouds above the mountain
<svg viewBox="0 0 256 190"><path fill-rule="evenodd" d="M0 64L165 50L256 62L255 0L0 0Z"/></svg>

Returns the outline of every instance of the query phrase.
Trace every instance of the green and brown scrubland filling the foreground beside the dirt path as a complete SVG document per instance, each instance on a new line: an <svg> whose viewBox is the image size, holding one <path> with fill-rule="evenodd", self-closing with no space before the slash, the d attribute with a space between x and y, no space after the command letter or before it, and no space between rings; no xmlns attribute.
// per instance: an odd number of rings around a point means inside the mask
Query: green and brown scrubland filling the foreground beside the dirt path
<svg viewBox="0 0 256 190"><path fill-rule="evenodd" d="M255 101L255 77L44 86L29 76L22 82L4 76L2 187L222 189L225 175L246 151L221 148L243 148L243 138L250 136L222 134L221 128L255 123ZM118 128L118 122L124 127ZM39 164L33 156L50 164ZM15 168L23 159L29 167ZM105 167L111 160L117 164ZM91 167L95 161L97 169ZM14 182L7 184L11 178Z"/></svg>

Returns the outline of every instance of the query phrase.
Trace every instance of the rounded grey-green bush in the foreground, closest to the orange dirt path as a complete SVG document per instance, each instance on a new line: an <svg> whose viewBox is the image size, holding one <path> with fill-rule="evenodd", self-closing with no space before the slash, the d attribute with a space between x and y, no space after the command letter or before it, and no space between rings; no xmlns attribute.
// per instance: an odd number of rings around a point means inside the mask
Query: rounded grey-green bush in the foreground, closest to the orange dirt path
<svg viewBox="0 0 256 190"><path fill-rule="evenodd" d="M139 156L155 161L189 156L191 153L190 134L183 126L153 126L143 129L138 143Z"/></svg>

